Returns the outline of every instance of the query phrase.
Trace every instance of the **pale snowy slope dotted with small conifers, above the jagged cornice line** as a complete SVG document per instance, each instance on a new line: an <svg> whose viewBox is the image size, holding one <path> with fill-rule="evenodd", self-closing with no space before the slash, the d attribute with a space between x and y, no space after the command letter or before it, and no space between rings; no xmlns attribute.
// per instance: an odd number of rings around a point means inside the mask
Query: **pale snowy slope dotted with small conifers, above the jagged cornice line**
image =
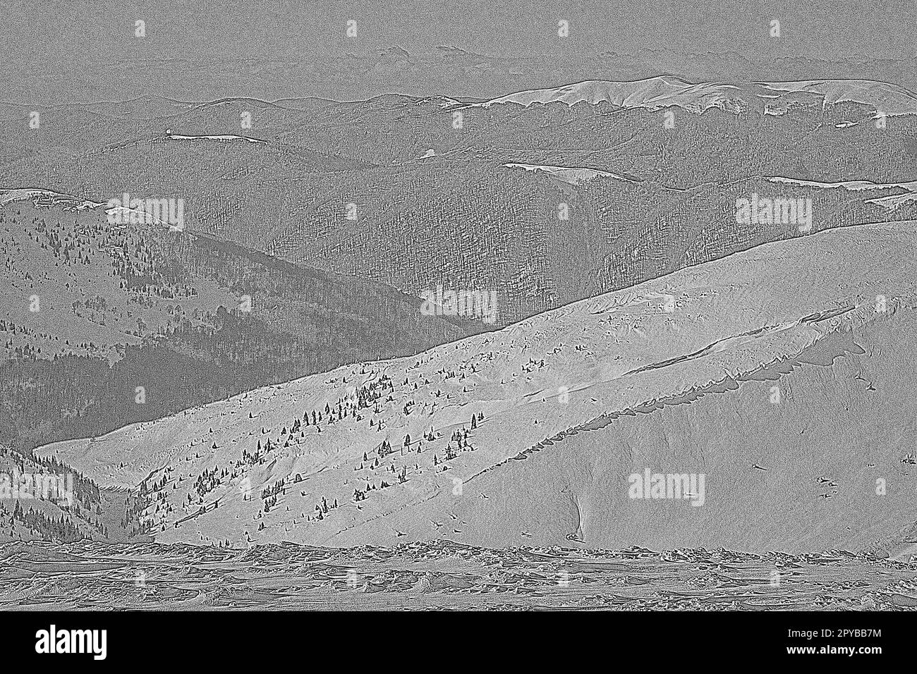
<svg viewBox="0 0 917 674"><path fill-rule="evenodd" d="M165 542L496 545L527 531L562 540L566 529L601 543L602 530L569 526L547 493L505 481L516 460L534 460L533 448L551 456L570 435L617 418L768 381L794 359L824 359L811 354L836 350L826 338L846 344L837 336L912 302L915 224L779 241L417 357L339 368L37 453L102 486L142 481L143 521ZM758 459L762 470L769 459ZM612 483L626 493L626 479ZM482 514L496 516L500 504L512 504L512 517L485 525ZM581 520L588 508L574 510Z"/></svg>

